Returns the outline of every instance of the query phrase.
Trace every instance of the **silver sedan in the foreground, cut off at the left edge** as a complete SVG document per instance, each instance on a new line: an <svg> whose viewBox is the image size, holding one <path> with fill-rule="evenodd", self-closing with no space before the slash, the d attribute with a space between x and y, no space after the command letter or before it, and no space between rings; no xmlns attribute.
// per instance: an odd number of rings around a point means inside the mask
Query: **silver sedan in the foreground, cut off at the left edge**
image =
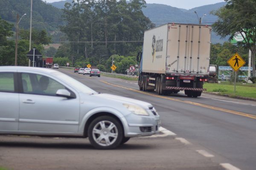
<svg viewBox="0 0 256 170"><path fill-rule="evenodd" d="M53 69L0 67L0 134L88 137L113 149L157 133L159 119L150 103L99 94Z"/></svg>

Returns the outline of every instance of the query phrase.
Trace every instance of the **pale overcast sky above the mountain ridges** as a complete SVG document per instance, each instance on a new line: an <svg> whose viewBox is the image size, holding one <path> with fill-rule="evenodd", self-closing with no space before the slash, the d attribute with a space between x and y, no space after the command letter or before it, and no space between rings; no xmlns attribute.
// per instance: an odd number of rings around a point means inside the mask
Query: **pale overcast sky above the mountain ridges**
<svg viewBox="0 0 256 170"><path fill-rule="evenodd" d="M46 0L48 3L57 2L60 0ZM160 3L172 7L191 9L198 6L204 6L214 3L224 2L224 0L145 0L147 3Z"/></svg>

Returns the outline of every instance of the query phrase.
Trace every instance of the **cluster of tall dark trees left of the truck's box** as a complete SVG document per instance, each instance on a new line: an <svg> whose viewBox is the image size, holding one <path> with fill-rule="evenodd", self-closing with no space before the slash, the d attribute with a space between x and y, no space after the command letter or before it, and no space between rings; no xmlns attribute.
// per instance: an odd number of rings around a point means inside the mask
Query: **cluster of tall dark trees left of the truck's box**
<svg viewBox="0 0 256 170"><path fill-rule="evenodd" d="M145 0L74 0L63 9L67 42L55 57L68 57L73 66L98 65L111 55L136 56L143 45L144 31L153 28L142 8ZM131 42L132 41L132 42ZM101 62L101 64L104 64Z"/></svg>

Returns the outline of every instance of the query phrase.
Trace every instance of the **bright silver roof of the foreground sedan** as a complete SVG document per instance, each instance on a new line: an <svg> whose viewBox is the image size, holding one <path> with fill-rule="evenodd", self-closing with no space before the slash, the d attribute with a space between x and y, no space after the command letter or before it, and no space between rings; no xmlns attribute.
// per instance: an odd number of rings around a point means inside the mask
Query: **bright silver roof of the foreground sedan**
<svg viewBox="0 0 256 170"><path fill-rule="evenodd" d="M54 73L58 72L54 69L48 69L48 68L39 68L39 67L27 67L27 66L0 66L0 71L5 70L5 71L14 71L14 70L19 70L19 71L38 71L42 73Z"/></svg>

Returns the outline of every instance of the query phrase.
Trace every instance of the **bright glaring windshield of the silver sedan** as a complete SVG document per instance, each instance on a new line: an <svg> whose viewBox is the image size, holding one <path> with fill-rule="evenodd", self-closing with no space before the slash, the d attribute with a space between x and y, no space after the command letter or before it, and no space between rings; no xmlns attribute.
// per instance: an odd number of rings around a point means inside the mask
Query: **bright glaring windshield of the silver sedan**
<svg viewBox="0 0 256 170"><path fill-rule="evenodd" d="M86 94L97 94L96 91L93 89L87 87L86 85L82 84L81 82L77 81L76 79L73 79L72 77L67 76L66 74L63 74L59 71L52 73L54 76L58 77L62 81L66 82L68 85L72 86L73 88L76 88L82 93Z"/></svg>

